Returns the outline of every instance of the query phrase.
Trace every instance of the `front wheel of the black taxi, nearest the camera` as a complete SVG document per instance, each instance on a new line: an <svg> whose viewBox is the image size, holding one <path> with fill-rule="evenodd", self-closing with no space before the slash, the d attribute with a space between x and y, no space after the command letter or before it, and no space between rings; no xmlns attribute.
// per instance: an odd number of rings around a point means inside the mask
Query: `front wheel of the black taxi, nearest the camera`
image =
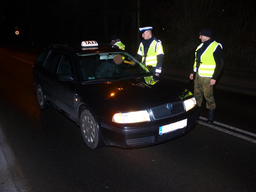
<svg viewBox="0 0 256 192"><path fill-rule="evenodd" d="M82 112L80 116L80 128L88 147L96 149L104 146L100 126L89 110Z"/></svg>

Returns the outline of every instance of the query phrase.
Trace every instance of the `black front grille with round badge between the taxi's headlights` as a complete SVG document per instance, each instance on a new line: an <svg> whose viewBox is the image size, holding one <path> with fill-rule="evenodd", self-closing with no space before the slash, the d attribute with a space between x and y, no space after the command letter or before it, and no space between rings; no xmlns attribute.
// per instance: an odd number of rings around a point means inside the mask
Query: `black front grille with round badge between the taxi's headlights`
<svg viewBox="0 0 256 192"><path fill-rule="evenodd" d="M164 119L185 112L185 106L182 101L170 103L172 104L172 109L168 109L167 104L168 103L150 108L152 116L155 120Z"/></svg>

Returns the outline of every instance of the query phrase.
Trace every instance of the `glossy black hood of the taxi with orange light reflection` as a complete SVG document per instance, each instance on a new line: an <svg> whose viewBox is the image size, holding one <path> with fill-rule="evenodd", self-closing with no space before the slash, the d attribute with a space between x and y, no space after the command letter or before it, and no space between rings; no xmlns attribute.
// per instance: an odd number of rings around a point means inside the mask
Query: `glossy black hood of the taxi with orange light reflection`
<svg viewBox="0 0 256 192"><path fill-rule="evenodd" d="M83 84L83 95L95 105L116 108L118 111L143 110L165 102L181 100L185 88L166 78L150 81L138 77L104 83ZM105 100L105 102L103 102ZM107 101L107 102L106 102ZM97 103L97 104L96 104ZM90 105L90 104L89 104Z"/></svg>

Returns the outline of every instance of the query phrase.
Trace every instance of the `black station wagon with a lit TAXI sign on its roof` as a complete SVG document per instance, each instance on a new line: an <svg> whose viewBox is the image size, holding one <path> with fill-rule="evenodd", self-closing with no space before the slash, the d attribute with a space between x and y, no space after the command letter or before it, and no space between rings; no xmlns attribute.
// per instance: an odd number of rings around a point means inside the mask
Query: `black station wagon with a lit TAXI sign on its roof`
<svg viewBox="0 0 256 192"><path fill-rule="evenodd" d="M129 53L95 41L48 46L33 66L33 80L39 107L51 105L74 121L93 149L171 140L190 131L199 117L187 89L154 75Z"/></svg>

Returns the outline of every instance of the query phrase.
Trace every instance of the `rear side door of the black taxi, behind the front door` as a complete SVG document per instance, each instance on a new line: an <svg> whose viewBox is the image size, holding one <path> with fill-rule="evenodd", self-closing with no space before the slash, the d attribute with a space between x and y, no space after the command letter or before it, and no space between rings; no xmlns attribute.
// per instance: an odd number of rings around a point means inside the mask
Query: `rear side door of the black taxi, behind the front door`
<svg viewBox="0 0 256 192"><path fill-rule="evenodd" d="M41 85L45 96L51 102L54 102L53 87L57 78L57 67L60 62L62 52L50 51L40 71Z"/></svg>

